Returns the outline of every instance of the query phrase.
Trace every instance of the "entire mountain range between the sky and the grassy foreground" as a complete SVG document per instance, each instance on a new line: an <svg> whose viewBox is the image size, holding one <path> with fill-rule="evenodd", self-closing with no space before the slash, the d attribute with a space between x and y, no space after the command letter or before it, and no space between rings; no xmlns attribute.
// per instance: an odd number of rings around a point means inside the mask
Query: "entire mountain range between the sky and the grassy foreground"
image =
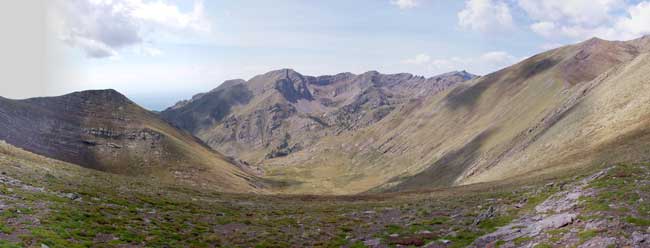
<svg viewBox="0 0 650 248"><path fill-rule="evenodd" d="M233 191L354 194L498 181L650 159L631 147L646 142L650 123L640 93L649 53L646 36L590 39L484 76L280 69L228 80L160 113L114 90L0 98L0 139L121 174L162 168L161 178L192 181L225 170ZM179 161L196 166L169 170ZM198 182L214 183L205 175Z"/></svg>

